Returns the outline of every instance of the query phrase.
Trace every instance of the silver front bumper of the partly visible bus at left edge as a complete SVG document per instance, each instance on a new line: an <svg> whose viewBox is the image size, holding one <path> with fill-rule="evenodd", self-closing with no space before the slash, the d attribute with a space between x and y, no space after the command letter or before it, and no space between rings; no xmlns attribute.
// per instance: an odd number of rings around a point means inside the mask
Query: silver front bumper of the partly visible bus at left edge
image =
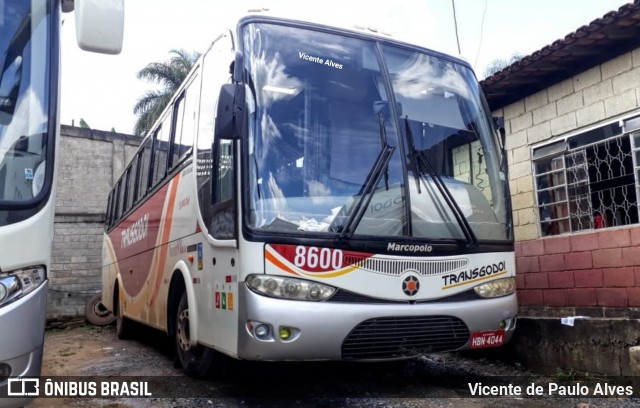
<svg viewBox="0 0 640 408"><path fill-rule="evenodd" d="M36 290L0 307L0 365L11 367L11 377L37 377L42 369L47 289ZM0 395L7 395L7 380L0 378ZM0 408L26 405L29 398L0 398Z"/></svg>

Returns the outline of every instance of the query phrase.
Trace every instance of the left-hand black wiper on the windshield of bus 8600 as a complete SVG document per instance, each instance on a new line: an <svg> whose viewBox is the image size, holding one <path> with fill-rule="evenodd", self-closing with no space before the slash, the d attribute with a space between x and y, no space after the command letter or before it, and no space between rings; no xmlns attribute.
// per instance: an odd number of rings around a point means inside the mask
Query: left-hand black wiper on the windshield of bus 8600
<svg viewBox="0 0 640 408"><path fill-rule="evenodd" d="M344 241L347 238L351 239L351 237L353 237L362 217L364 217L367 207L369 207L369 203L371 203L374 190L383 173L385 176L385 186L387 190L389 189L389 160L391 160L391 155L393 155L396 148L394 146L389 146L382 114L378 113L378 117L380 122L380 143L382 144L382 150L378 153L378 157L376 158L373 167L371 167L369 174L367 174L364 185L358 192L360 198L358 198L358 200L356 200L351 208L346 212L349 214L349 218L347 218L347 221L344 224L341 224L336 228L336 230L340 232L340 235L337 238L339 241Z"/></svg>

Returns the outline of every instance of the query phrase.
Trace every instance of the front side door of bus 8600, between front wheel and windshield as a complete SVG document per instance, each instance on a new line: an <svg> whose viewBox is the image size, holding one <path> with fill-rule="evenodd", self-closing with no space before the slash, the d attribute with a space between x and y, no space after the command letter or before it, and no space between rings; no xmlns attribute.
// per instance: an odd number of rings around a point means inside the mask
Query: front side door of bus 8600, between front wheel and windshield
<svg viewBox="0 0 640 408"><path fill-rule="evenodd" d="M202 68L199 129L196 143L197 194L203 230L201 282L194 286L198 304L198 339L230 354L237 348L238 215L237 142L215 135L218 95L231 82L235 58L231 33L218 37ZM200 256L200 254L199 254Z"/></svg>

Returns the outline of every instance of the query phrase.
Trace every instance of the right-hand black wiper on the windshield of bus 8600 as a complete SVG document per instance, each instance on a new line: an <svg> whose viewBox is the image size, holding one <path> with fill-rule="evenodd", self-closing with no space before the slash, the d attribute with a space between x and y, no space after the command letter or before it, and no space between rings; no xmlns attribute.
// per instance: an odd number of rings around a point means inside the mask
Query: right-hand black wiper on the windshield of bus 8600
<svg viewBox="0 0 640 408"><path fill-rule="evenodd" d="M477 245L478 238L473 233L473 230L471 229L471 225L469 224L469 221L467 221L467 218L464 216L464 213L458 206L458 203L456 202L455 198L451 194L451 191L449 191L444 181L442 181L442 178L440 177L440 175L435 171L429 158L426 155L421 155L416 149L416 146L413 142L413 132L411 131L411 126L409 125L408 115L404 117L404 124L406 128L407 138L409 139L408 140L409 150L410 150L411 158L414 163L414 170L416 172L416 175L420 178L425 179L426 181L426 177L422 172L422 170L420 169L420 165L422 165L427 170L427 174L433 180L433 183L436 185L436 188L440 192L440 195L442 195L442 197L444 198L445 203L449 206L449 208L451 209L451 212L453 212L453 215L456 218L456 221L458 222L458 225L460 226L460 230L464 234L465 239L467 240L467 243L469 245ZM420 181L416 179L416 183L418 184L418 194L421 194Z"/></svg>

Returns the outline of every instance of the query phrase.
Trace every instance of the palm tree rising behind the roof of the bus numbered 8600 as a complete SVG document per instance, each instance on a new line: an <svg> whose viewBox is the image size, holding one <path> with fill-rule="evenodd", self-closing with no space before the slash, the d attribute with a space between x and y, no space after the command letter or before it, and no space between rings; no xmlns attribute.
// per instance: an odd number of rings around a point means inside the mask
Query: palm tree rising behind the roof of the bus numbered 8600
<svg viewBox="0 0 640 408"><path fill-rule="evenodd" d="M161 89L147 91L133 107L133 113L138 115L136 135L145 134L153 126L200 56L183 49L171 50L169 54L172 55L169 60L152 62L138 71L138 79L159 84Z"/></svg>

